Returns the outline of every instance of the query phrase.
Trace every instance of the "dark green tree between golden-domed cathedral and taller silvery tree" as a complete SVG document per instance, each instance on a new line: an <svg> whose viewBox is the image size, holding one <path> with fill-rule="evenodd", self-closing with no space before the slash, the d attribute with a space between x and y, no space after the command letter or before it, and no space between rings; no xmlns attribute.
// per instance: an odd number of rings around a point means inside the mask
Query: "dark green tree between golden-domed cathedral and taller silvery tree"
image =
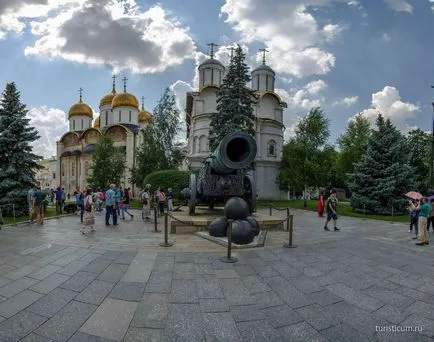
<svg viewBox="0 0 434 342"><path fill-rule="evenodd" d="M145 177L155 171L169 168L163 145L157 138L153 126L147 126L142 132L143 140L136 155L136 168L131 170L131 182L144 185Z"/></svg>

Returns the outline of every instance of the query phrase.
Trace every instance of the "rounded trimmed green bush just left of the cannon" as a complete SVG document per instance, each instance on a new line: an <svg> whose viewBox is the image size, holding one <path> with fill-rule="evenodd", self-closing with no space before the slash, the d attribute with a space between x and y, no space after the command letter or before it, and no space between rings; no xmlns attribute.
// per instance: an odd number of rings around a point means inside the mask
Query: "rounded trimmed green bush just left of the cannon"
<svg viewBox="0 0 434 342"><path fill-rule="evenodd" d="M187 188L190 182L190 171L163 170L152 172L146 176L144 184L150 184L151 190L172 188L175 198L181 197L181 190Z"/></svg>

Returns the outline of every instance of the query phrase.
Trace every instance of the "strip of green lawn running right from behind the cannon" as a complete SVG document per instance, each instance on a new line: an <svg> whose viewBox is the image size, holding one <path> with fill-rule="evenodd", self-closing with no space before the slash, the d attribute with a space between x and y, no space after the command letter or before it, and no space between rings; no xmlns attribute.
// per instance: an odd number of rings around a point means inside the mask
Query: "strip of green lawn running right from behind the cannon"
<svg viewBox="0 0 434 342"><path fill-rule="evenodd" d="M271 201L272 205L277 208L294 208L294 209L304 209L304 200L290 200L290 201ZM270 207L270 201L258 201L258 208L269 208ZM310 200L307 201L307 210L310 211L316 211L317 207L317 201L316 200ZM381 221L388 221L388 222L409 222L410 221L410 215L371 215L371 214L362 214L354 212L349 203L342 203L340 202L338 204L338 215L342 216L351 216L351 217L360 217L362 219L370 219L370 220L381 220Z"/></svg>

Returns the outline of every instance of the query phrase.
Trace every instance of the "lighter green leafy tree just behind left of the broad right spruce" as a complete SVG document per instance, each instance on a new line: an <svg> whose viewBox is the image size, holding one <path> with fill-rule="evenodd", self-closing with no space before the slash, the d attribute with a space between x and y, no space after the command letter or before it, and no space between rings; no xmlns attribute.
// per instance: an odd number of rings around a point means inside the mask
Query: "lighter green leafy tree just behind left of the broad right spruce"
<svg viewBox="0 0 434 342"><path fill-rule="evenodd" d="M358 114L348 123L347 130L337 141L340 149L337 169L341 179L346 180L347 173L353 172L355 163L366 150L371 134L369 120L362 114Z"/></svg>

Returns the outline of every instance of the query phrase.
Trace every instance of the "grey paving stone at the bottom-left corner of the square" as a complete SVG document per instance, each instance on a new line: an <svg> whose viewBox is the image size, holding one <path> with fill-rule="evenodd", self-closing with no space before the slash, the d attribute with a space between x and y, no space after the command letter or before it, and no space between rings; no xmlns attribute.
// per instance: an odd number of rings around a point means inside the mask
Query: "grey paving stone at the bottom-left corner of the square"
<svg viewBox="0 0 434 342"><path fill-rule="evenodd" d="M19 341L47 319L28 311L21 311L0 323L0 341Z"/></svg>

